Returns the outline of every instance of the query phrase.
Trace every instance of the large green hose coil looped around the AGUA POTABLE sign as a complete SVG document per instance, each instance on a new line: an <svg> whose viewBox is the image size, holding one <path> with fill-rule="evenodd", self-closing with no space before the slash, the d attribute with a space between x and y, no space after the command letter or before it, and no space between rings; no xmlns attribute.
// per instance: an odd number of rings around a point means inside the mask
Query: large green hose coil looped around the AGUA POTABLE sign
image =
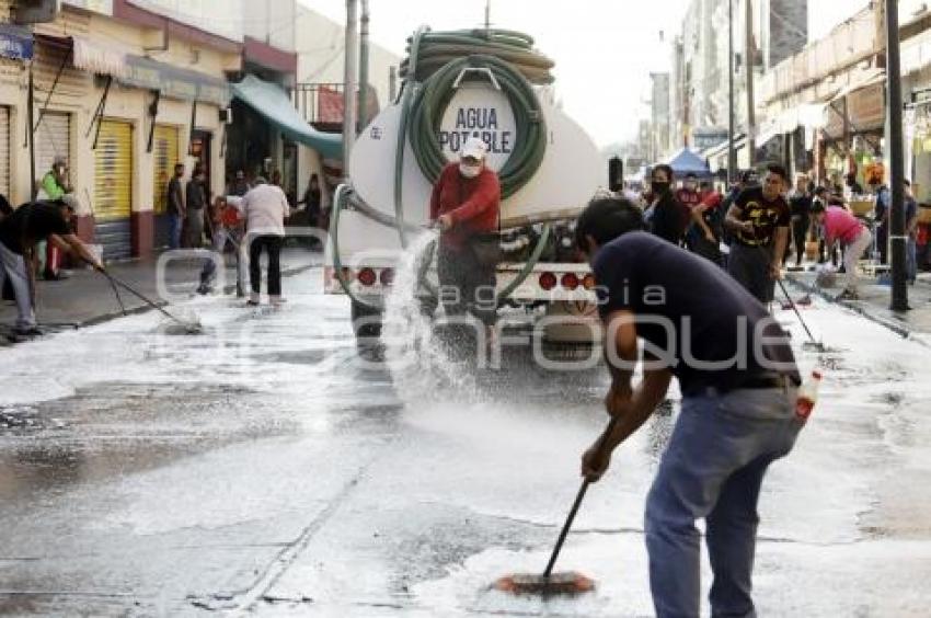
<svg viewBox="0 0 931 618"><path fill-rule="evenodd" d="M508 62L493 56L469 56L451 60L433 75L414 95L407 127L411 148L421 171L435 183L448 164L437 135L440 122L456 94L453 84L469 68L491 70L507 95L517 124L514 151L498 172L502 198L506 199L527 184L547 153L547 125L543 110L533 88ZM409 91L410 93L410 91ZM405 101L406 103L406 101Z"/></svg>

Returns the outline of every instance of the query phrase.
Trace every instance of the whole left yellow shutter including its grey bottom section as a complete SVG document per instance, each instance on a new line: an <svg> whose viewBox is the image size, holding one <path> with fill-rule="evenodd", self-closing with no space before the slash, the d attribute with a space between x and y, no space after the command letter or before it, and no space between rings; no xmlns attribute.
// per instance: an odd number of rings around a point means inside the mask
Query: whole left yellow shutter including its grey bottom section
<svg viewBox="0 0 931 618"><path fill-rule="evenodd" d="M107 260L131 253L133 125L102 121L94 151L95 237Z"/></svg>

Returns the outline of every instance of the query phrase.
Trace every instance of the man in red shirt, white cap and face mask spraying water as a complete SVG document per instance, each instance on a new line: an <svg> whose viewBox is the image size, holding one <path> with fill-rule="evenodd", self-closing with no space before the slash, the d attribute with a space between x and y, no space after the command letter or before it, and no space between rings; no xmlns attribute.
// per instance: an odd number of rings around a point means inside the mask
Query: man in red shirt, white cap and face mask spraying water
<svg viewBox="0 0 931 618"><path fill-rule="evenodd" d="M491 325L497 309L496 264L482 260L478 245L496 241L501 184L485 167L486 153L481 139L465 141L459 162L447 164L434 186L430 220L442 232L437 271L447 316L469 311Z"/></svg>

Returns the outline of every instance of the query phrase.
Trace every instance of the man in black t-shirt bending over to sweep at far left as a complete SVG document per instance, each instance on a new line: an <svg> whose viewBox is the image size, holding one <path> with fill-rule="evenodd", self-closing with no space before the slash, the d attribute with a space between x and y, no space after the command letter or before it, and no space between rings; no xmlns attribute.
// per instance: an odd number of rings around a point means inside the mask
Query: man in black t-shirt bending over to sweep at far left
<svg viewBox="0 0 931 618"><path fill-rule="evenodd" d="M42 334L35 322L25 254L36 242L47 240L66 252L77 254L97 270L103 265L71 231L71 208L65 202L23 204L0 221L0 286L8 278L13 285L19 318L14 331L21 335Z"/></svg>

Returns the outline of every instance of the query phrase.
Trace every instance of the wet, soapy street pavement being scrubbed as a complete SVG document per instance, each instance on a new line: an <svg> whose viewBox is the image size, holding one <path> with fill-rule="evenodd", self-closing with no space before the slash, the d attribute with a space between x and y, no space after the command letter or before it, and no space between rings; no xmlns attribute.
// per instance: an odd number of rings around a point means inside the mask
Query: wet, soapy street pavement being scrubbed
<svg viewBox="0 0 931 618"><path fill-rule="evenodd" d="M281 309L230 297L0 352L0 614L650 616L643 504L656 414L588 493L558 565L583 597L491 591L541 571L606 422L602 367L501 370L359 348L319 268ZM929 348L816 301L821 400L763 487L761 616L927 616ZM455 376L456 379L450 379ZM710 583L703 566L703 585Z"/></svg>

